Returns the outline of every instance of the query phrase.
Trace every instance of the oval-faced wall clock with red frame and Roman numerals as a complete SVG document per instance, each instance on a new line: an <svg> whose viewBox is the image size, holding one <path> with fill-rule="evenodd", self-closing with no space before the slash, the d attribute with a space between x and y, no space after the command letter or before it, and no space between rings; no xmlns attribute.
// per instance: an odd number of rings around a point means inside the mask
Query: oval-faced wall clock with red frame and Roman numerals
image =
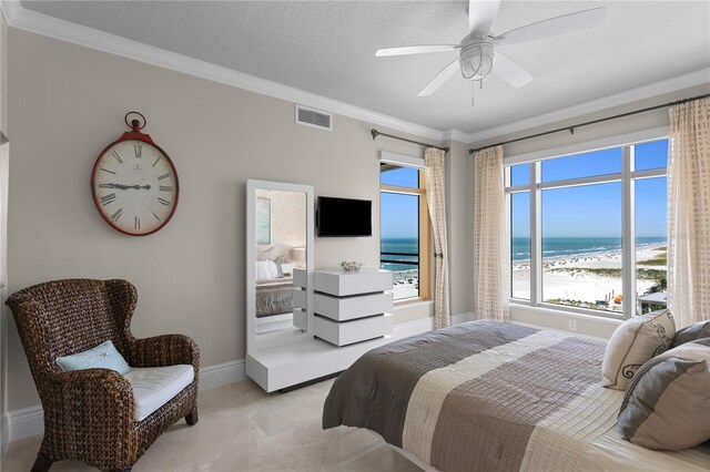
<svg viewBox="0 0 710 472"><path fill-rule="evenodd" d="M131 114L143 119L132 120ZM91 175L93 202L112 228L146 236L161 229L178 207L178 172L168 154L141 133L145 117L129 112L124 117L131 131L109 144L97 158Z"/></svg>

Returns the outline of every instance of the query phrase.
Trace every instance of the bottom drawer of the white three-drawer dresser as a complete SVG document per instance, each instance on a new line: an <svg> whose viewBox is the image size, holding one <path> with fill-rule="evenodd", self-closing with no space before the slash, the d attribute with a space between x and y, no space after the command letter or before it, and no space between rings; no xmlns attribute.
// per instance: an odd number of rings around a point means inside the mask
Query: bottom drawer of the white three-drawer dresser
<svg viewBox="0 0 710 472"><path fill-rule="evenodd" d="M378 315L343 322L320 316L314 318L314 335L335 346L347 346L392 334L392 315Z"/></svg>

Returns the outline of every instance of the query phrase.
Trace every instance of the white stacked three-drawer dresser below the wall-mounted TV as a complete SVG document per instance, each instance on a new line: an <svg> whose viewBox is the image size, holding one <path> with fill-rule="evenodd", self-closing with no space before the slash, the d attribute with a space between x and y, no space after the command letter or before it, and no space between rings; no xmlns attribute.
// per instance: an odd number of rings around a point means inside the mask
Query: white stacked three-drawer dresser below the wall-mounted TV
<svg viewBox="0 0 710 472"><path fill-rule="evenodd" d="M392 273L316 270L314 335L347 346L392 335Z"/></svg>

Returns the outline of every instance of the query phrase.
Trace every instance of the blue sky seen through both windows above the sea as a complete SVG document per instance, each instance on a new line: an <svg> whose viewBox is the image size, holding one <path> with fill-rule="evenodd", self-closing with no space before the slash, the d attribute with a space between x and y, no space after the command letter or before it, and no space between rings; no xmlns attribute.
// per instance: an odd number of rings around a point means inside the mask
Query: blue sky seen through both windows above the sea
<svg viewBox="0 0 710 472"><path fill-rule="evenodd" d="M636 170L666 167L668 141L636 146ZM621 172L621 148L597 151L542 162L542 182ZM529 182L529 164L511 167L513 185ZM400 167L381 174L381 183L416 187L418 171ZM636 183L636 233L638 237L666 235L666 177ZM513 195L513 236L529 237L530 201ZM417 197L381 194L383 238L417 237ZM621 184L598 184L542 192L544 237L621 237Z"/></svg>

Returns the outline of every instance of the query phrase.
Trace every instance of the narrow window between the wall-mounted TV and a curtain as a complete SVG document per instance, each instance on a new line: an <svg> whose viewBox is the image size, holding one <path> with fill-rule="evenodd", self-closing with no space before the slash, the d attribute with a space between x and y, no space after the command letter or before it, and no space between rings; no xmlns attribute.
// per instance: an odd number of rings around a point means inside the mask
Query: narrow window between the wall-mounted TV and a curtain
<svg viewBox="0 0 710 472"><path fill-rule="evenodd" d="M429 214L424 171L379 165L381 255L394 274L394 299L427 299Z"/></svg>

